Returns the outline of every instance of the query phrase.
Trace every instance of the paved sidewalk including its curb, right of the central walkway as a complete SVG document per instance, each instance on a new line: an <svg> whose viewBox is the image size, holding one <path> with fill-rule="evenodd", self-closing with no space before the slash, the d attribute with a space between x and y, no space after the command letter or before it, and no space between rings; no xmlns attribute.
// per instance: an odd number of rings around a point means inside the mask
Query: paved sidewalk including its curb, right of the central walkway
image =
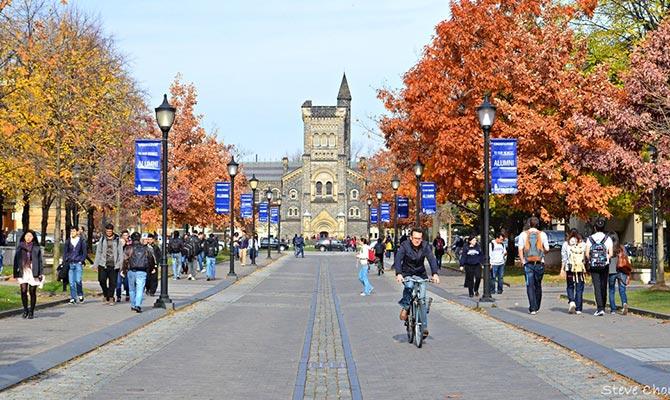
<svg viewBox="0 0 670 400"><path fill-rule="evenodd" d="M389 266L389 262L386 263ZM544 336L643 385L670 385L670 324L638 315L595 317L595 306L584 303L583 314L568 314L565 286L543 286L537 315L528 313L525 286L505 287L494 303L468 297L463 274L443 268L439 285L430 290L467 307L482 307L489 316ZM483 283L480 295L483 294ZM585 288L585 293L592 288ZM618 294L617 294L618 296ZM631 306L635 306L631 304Z"/></svg>

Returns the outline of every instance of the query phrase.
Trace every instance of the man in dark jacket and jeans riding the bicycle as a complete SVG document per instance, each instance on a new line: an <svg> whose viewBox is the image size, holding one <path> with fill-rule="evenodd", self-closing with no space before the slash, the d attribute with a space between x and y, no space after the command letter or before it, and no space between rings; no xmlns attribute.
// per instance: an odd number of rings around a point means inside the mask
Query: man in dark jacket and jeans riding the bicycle
<svg viewBox="0 0 670 400"><path fill-rule="evenodd" d="M412 289L415 282L407 281L406 277L417 276L423 279L428 279L426 274L426 267L424 260L428 258L428 264L432 272L432 281L440 283L440 277L437 275L437 260L433 254L432 247L427 241L423 240L423 232L419 228L413 228L410 240L402 242L398 246L398 252L393 262L393 268L396 273L396 281L405 285L402 292L402 299L398 302L402 309L400 310L400 319L407 320L407 313L410 302L412 301ZM426 304L426 283L419 283L419 300L422 304ZM424 321L423 336L428 336L428 317L425 315L426 307L423 307L424 315L421 320Z"/></svg>

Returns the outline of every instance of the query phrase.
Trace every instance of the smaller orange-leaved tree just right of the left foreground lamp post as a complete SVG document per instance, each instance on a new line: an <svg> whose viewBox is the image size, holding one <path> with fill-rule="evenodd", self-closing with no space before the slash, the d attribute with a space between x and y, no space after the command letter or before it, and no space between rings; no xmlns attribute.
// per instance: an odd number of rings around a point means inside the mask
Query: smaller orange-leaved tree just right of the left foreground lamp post
<svg viewBox="0 0 670 400"><path fill-rule="evenodd" d="M214 134L208 134L201 126L202 115L195 112L197 91L192 83L183 83L181 76L177 76L170 86L169 102L177 108L168 137L169 218L178 225L228 226L229 216L214 212L214 183L230 181L226 164L234 147L218 142ZM246 186L240 169L235 179L236 210L239 210L239 195ZM143 212L142 220L158 226L160 199L156 196L149 202L150 209Z"/></svg>

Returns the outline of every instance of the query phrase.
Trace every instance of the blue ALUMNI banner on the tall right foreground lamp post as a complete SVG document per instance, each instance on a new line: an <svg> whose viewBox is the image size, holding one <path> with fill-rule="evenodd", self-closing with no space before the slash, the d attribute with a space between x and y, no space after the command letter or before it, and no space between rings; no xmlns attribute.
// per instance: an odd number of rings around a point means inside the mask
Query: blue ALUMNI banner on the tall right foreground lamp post
<svg viewBox="0 0 670 400"><path fill-rule="evenodd" d="M517 187L516 139L491 139L491 193L515 194Z"/></svg>

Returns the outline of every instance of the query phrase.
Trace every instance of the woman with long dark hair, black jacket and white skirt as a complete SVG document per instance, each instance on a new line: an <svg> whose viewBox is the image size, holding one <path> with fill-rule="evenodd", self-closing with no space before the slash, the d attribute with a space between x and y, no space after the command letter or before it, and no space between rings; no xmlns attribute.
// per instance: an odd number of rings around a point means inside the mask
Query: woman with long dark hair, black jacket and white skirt
<svg viewBox="0 0 670 400"><path fill-rule="evenodd" d="M37 235L32 230L26 230L14 253L14 271L21 289L21 304L23 318L33 319L35 304L37 304L37 288L44 284L44 260L42 248L37 243ZM28 308L28 294L30 293L30 308Z"/></svg>

